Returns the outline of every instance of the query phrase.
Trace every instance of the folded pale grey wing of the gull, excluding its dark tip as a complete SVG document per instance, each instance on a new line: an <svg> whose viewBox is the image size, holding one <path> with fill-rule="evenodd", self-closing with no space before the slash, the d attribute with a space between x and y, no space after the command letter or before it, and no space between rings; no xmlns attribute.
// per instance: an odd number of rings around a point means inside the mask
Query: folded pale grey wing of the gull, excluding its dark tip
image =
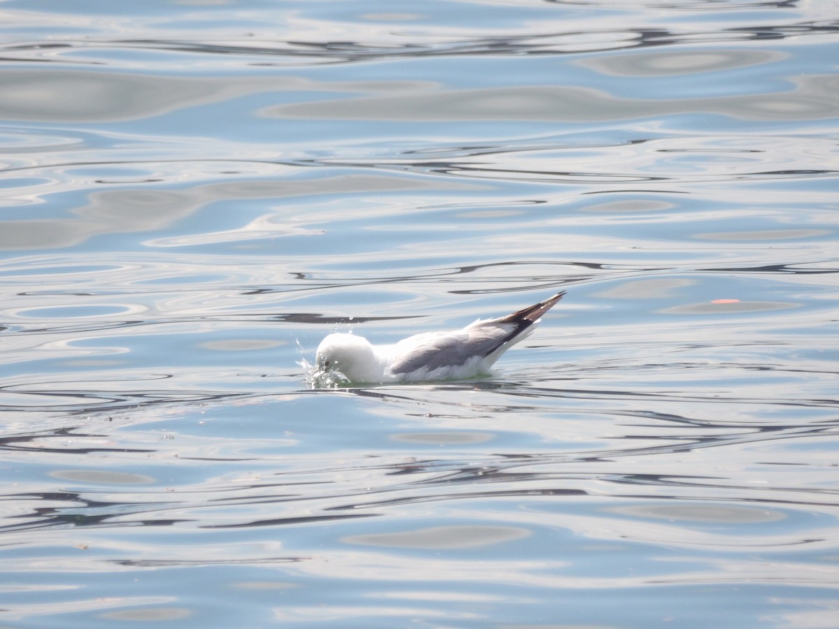
<svg viewBox="0 0 839 629"><path fill-rule="evenodd" d="M488 356L502 346L510 334L508 327L493 325L406 339L402 342L414 341L413 347L406 347L404 355L393 361L390 371L410 373L425 367L432 372L444 366L464 365L473 356Z"/></svg>

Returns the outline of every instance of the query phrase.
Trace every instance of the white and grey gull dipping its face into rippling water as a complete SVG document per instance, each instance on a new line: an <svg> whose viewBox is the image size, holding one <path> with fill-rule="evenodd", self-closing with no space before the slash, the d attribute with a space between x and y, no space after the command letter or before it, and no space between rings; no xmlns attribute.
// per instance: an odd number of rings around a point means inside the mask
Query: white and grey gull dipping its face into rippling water
<svg viewBox="0 0 839 629"><path fill-rule="evenodd" d="M531 335L564 295L497 319L479 319L462 330L423 332L393 345L376 346L355 334L328 335L317 348L313 382L430 382L492 373L492 364Z"/></svg>

